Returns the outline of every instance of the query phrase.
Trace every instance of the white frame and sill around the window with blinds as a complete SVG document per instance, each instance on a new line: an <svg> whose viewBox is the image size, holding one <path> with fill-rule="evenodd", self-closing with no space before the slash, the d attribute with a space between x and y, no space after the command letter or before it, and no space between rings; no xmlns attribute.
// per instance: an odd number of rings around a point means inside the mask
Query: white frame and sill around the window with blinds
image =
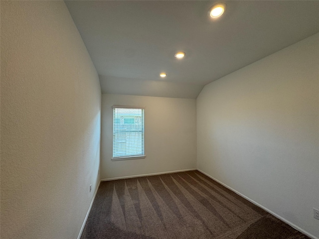
<svg viewBox="0 0 319 239"><path fill-rule="evenodd" d="M115 109L142 109L143 112L143 152L144 154L140 155L130 155L130 156L117 156L114 157L114 110ZM112 161L117 161L117 160L128 160L128 159L140 159L140 158L145 158L145 107L143 106L112 106Z"/></svg>

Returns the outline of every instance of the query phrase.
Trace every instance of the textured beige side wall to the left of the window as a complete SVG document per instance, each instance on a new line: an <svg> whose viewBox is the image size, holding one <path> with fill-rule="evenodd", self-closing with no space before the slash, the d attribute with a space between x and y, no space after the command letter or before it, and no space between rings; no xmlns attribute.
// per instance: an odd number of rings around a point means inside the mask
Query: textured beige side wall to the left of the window
<svg viewBox="0 0 319 239"><path fill-rule="evenodd" d="M1 238L77 238L99 182L100 111L64 2L1 1Z"/></svg>

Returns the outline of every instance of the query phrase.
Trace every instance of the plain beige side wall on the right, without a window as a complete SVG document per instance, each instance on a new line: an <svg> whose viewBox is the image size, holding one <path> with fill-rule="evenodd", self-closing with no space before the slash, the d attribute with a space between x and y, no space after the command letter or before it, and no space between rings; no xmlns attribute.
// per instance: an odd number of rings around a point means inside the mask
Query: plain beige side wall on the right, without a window
<svg viewBox="0 0 319 239"><path fill-rule="evenodd" d="M204 87L197 165L319 237L319 34Z"/></svg>

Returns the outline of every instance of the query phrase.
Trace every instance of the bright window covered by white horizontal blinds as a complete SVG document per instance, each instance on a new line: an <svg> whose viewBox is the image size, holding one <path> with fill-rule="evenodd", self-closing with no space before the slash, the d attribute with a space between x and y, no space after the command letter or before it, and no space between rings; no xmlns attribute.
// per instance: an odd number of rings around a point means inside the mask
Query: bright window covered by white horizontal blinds
<svg viewBox="0 0 319 239"><path fill-rule="evenodd" d="M112 160L144 155L144 107L113 106Z"/></svg>

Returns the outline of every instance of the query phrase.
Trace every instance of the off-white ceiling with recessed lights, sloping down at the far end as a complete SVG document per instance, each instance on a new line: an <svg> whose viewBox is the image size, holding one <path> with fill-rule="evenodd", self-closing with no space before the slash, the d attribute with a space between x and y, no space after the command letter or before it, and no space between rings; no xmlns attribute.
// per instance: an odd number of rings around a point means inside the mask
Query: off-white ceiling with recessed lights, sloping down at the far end
<svg viewBox="0 0 319 239"><path fill-rule="evenodd" d="M211 20L216 2L65 1L108 94L196 98L204 85L319 32L319 1L222 1L227 11Z"/></svg>

